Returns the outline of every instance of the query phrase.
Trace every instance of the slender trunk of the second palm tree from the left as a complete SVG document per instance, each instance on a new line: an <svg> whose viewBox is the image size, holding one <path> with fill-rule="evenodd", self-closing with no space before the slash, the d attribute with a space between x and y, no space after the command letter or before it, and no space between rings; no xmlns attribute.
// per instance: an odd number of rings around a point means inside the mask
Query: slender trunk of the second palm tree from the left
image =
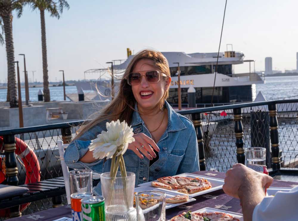
<svg viewBox="0 0 298 221"><path fill-rule="evenodd" d="M46 22L44 19L44 10L40 10L41 21L41 48L42 48L42 69L44 73L44 101L50 101L48 59L46 55Z"/></svg>

